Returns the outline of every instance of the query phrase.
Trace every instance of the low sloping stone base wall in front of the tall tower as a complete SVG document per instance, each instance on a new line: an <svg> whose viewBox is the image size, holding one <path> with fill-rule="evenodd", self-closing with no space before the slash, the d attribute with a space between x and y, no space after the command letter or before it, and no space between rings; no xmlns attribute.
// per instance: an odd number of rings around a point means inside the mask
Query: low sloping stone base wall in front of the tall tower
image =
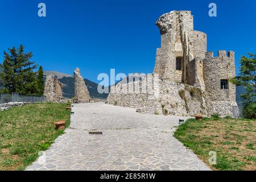
<svg viewBox="0 0 256 182"><path fill-rule="evenodd" d="M152 84L152 92L143 92L143 82L145 83L146 80L113 86L106 104L133 107L139 113L181 116L200 113L210 115L209 97L199 88L170 80L159 80L158 86ZM129 88L134 89L136 86L139 86L140 93L127 92ZM133 91L133 89L130 90Z"/></svg>

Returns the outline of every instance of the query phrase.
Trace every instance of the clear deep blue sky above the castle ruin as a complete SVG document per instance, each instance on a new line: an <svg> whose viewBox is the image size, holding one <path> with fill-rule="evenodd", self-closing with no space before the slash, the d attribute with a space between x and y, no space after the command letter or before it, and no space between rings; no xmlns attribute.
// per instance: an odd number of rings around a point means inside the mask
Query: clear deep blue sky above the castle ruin
<svg viewBox="0 0 256 182"><path fill-rule="evenodd" d="M151 73L160 34L155 21L172 10L191 10L195 30L208 35L208 51L256 53L256 1L0 0L0 62L3 50L23 44L44 70L97 81L99 73ZM47 6L39 18L38 3ZM208 16L210 2L217 17Z"/></svg>

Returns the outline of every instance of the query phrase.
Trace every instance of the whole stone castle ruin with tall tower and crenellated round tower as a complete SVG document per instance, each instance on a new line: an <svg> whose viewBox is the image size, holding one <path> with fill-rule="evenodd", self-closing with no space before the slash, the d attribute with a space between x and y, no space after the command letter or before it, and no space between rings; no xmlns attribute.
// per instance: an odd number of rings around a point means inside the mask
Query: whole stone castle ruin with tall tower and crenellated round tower
<svg viewBox="0 0 256 182"><path fill-rule="evenodd" d="M153 74L113 86L106 102L139 113L238 117L236 86L229 82L235 76L234 52L218 51L217 57L207 52L207 35L193 30L191 11L171 11L156 26L161 47Z"/></svg>

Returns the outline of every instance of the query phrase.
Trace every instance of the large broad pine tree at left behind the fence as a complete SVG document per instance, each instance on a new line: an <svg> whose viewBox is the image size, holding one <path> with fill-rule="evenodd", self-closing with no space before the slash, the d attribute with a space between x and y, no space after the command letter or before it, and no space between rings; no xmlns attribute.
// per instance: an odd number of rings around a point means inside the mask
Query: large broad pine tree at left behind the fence
<svg viewBox="0 0 256 182"><path fill-rule="evenodd" d="M30 61L32 53L24 53L21 45L9 49L9 53L4 51L3 86L8 92L18 92L20 94L36 94L37 80L33 69L37 68L35 61Z"/></svg>

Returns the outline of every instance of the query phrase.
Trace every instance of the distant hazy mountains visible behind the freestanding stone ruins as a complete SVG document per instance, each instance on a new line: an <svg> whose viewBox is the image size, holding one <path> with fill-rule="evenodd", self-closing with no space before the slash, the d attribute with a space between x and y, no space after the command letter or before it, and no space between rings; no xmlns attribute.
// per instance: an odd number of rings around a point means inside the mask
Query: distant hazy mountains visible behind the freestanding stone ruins
<svg viewBox="0 0 256 182"><path fill-rule="evenodd" d="M66 98L74 97L74 77L73 75L68 75L65 73L60 73L56 71L44 71L44 81L46 81L47 75L54 75L63 85L63 96ZM101 98L106 99L108 97L108 93L98 93L98 84L96 82L87 80L84 78L85 85L87 86L90 96L93 98Z"/></svg>

